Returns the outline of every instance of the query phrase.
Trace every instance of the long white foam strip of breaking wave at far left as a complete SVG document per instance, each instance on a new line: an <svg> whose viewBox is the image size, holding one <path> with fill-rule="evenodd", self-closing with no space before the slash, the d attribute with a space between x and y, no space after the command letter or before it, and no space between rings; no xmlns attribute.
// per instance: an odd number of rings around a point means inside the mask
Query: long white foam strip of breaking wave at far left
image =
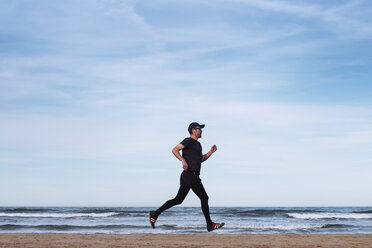
<svg viewBox="0 0 372 248"><path fill-rule="evenodd" d="M24 218L77 218L77 217L92 217L105 218L118 215L117 212L107 213L0 213L0 217L24 217Z"/></svg>

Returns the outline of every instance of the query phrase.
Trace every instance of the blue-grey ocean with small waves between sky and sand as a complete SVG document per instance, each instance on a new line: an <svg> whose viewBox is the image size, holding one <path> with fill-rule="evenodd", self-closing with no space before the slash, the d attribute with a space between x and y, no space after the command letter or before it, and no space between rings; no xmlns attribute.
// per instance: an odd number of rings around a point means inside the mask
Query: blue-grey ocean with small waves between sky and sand
<svg viewBox="0 0 372 248"><path fill-rule="evenodd" d="M206 233L200 207L0 207L0 233ZM211 207L218 233L372 233L372 207Z"/></svg>

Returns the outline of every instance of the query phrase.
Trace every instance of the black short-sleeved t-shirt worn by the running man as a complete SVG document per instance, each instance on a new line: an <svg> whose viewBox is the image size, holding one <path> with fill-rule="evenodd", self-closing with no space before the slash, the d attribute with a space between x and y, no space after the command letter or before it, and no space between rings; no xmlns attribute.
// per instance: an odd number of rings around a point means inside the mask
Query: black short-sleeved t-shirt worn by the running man
<svg viewBox="0 0 372 248"><path fill-rule="evenodd" d="M182 157L186 160L189 166L188 170L200 174L200 167L203 160L202 147L199 141L191 137L184 139L181 144L184 146L182 149Z"/></svg>

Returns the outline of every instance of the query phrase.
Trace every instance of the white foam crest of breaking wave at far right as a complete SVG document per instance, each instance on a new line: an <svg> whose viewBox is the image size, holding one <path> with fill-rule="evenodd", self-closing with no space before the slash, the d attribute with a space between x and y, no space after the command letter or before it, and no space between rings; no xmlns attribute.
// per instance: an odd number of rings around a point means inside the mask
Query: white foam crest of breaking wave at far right
<svg viewBox="0 0 372 248"><path fill-rule="evenodd" d="M288 216L296 219L372 219L372 214L369 213L288 213Z"/></svg>

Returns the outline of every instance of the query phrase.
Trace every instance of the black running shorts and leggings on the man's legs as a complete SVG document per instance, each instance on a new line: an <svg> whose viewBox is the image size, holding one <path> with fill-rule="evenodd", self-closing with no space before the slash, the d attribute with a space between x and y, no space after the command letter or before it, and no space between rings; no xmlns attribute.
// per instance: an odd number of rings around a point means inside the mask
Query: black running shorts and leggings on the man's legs
<svg viewBox="0 0 372 248"><path fill-rule="evenodd" d="M199 197L201 201L201 208L205 217L205 221L207 222L207 226L213 224L211 217L209 215L209 206L208 206L208 195L204 189L204 186L201 182L199 175L196 172L192 171L183 171L180 177L180 188L178 189L178 193L175 198L167 201L163 204L160 208L155 211L155 216L158 217L163 211L171 208L175 205L179 205L183 202L186 198L187 194L189 193L190 189L194 191L194 193Z"/></svg>

